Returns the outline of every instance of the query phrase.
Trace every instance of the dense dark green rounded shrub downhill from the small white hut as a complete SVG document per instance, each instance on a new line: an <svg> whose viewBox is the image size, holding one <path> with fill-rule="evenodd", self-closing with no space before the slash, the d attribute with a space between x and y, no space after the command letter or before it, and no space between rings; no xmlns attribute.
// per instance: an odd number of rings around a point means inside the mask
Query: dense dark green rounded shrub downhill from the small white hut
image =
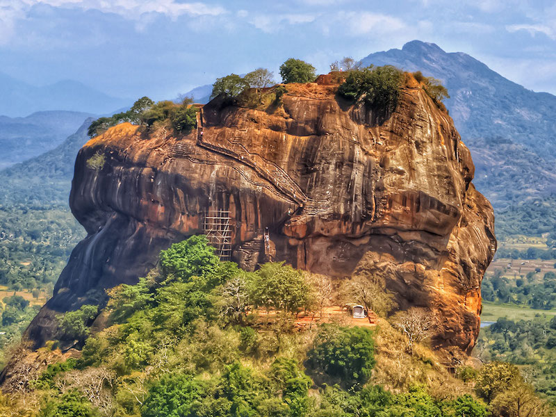
<svg viewBox="0 0 556 417"><path fill-rule="evenodd" d="M347 385L364 384L375 366L373 332L365 327L322 325L307 357L318 372L340 377Z"/></svg>

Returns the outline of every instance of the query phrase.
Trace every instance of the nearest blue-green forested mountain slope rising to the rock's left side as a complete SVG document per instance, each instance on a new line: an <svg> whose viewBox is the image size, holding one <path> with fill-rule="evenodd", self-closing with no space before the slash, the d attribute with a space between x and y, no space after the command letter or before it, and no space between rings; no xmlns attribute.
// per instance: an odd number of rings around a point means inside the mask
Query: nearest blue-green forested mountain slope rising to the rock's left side
<svg viewBox="0 0 556 417"><path fill-rule="evenodd" d="M0 171L0 206L22 204L28 208L67 208L75 158L89 140L89 117L56 148Z"/></svg>

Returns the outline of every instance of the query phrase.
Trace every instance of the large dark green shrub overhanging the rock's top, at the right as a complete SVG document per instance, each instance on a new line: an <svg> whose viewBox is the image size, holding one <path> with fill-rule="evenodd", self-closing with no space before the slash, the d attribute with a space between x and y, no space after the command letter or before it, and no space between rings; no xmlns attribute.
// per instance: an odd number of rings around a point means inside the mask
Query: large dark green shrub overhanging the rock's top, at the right
<svg viewBox="0 0 556 417"><path fill-rule="evenodd" d="M345 99L363 101L367 106L388 113L398 104L403 80L403 72L391 65L371 66L350 71L338 93Z"/></svg>

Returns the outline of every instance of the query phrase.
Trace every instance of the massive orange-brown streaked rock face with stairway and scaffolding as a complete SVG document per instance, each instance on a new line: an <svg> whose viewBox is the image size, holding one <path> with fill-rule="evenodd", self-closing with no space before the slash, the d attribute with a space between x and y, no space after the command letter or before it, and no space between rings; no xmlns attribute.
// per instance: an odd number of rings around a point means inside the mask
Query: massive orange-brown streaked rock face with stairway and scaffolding
<svg viewBox="0 0 556 417"><path fill-rule="evenodd" d="M329 77L319 81L287 85L265 111L212 101L189 136L120 124L90 140L70 196L88 236L28 336L42 343L54 311L136 282L160 250L223 211L229 220L214 221L229 225L231 258L244 268L274 260L338 278L382 275L402 308L439 313L436 347L469 352L496 239L451 118L414 84L373 122ZM95 154L104 164L90 166Z"/></svg>

